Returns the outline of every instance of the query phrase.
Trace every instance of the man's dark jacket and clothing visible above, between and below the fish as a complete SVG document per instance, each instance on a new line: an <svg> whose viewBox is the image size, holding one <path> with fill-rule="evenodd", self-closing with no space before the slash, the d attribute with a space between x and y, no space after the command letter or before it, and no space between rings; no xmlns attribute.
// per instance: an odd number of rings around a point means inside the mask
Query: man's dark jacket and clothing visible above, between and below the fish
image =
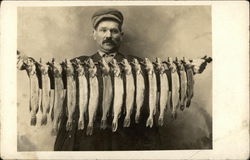
<svg viewBox="0 0 250 160"><path fill-rule="evenodd" d="M101 56L96 53L90 56L94 62L98 62ZM81 61L86 60L87 56L77 57ZM121 62L123 58L127 58L129 61L132 58L140 58L134 56L125 56L122 54L117 54L114 57L118 62ZM74 61L73 59L72 61ZM97 72L99 80L99 93L102 93L102 77L100 69ZM146 79L145 79L146 80ZM135 124L134 117L135 112L131 115L131 125L129 128L123 128L123 120L125 115L122 114L119 118L119 125L116 132L112 132L111 123L112 116L108 117L108 128L105 130L100 129L101 121L101 101L102 94L100 94L99 106L97 111L96 120L94 123L94 132L92 136L86 136L86 126L87 122L85 120L85 129L78 130L78 118L79 110L76 107L76 112L73 121L73 130L70 132L66 131L67 116L63 114L62 121L60 124L59 132L54 145L54 150L56 151L107 151L107 150L147 150L147 149L159 149L160 137L158 128L156 126L156 121L154 120L153 128L146 128L146 120L148 116L148 82L146 81L146 94L144 105L142 107L142 114L139 124ZM66 107L64 107L66 108ZM112 114L109 114L112 115ZM155 116L157 117L157 116Z"/></svg>

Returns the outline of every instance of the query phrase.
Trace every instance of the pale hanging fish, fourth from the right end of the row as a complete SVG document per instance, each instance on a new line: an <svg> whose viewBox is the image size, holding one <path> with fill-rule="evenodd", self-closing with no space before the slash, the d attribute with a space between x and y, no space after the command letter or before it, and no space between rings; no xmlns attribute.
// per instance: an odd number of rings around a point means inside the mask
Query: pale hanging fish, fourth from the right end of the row
<svg viewBox="0 0 250 160"><path fill-rule="evenodd" d="M156 71L159 74L160 79L160 115L158 119L158 124L163 126L164 124L164 111L167 106L167 102L169 100L169 84L168 77L165 72L165 67L160 58L156 58Z"/></svg>

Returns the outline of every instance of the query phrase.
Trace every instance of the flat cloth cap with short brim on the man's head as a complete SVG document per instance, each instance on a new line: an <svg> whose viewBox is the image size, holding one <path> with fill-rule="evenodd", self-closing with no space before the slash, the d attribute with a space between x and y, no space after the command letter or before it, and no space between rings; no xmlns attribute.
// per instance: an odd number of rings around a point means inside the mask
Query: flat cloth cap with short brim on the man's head
<svg viewBox="0 0 250 160"><path fill-rule="evenodd" d="M92 19L91 19L93 27L96 28L96 26L102 20L105 20L105 19L113 19L117 21L120 25L123 24L122 13L117 9L109 8L109 9L98 10L97 12L93 14Z"/></svg>

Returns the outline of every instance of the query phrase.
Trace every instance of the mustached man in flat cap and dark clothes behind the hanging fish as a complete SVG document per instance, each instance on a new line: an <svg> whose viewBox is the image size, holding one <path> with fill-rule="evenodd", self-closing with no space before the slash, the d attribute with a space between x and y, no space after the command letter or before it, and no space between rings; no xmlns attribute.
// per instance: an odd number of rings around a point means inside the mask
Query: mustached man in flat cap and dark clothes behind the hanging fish
<svg viewBox="0 0 250 160"><path fill-rule="evenodd" d="M123 15L116 9L104 9L97 11L92 16L93 38L97 43L97 53L90 56L94 62L98 62L102 57L107 62L113 58L121 62L124 58L129 61L138 57L125 56L119 53L119 47L124 33L122 32ZM89 57L77 57L85 61ZM74 61L73 59L72 61ZM109 126L106 130L100 130L101 102L102 102L102 79L100 68L98 68L97 77L99 81L99 106L94 124L94 133L92 136L86 136L86 127L83 131L77 129L79 111L75 113L73 121L73 130L67 132L65 129L67 117L64 114L59 133L55 142L55 150L134 150L134 149L156 149L159 144L159 135L157 128L146 128L147 102L143 106L141 122L138 125L131 122L129 128L123 128L124 114L119 118L119 128L113 133L111 131L112 116L108 117ZM147 96L147 94L145 95ZM78 107L77 107L78 108ZM131 116L134 117L134 114ZM86 125L85 125L86 126Z"/></svg>

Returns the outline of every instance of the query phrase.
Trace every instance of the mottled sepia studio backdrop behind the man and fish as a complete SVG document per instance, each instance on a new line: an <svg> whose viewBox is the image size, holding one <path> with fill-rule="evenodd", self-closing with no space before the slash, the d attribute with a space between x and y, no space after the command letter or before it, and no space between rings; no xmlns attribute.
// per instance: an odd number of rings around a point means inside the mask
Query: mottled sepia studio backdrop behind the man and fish
<svg viewBox="0 0 250 160"><path fill-rule="evenodd" d="M91 16L104 7L19 7L17 45L36 60L62 61L96 53ZM148 57L212 57L210 6L110 6L124 15L120 52ZM53 150L51 126L30 126L29 80L17 71L18 151ZM41 113L38 113L38 116ZM212 148L212 65L195 75L190 108L168 121L165 149Z"/></svg>

